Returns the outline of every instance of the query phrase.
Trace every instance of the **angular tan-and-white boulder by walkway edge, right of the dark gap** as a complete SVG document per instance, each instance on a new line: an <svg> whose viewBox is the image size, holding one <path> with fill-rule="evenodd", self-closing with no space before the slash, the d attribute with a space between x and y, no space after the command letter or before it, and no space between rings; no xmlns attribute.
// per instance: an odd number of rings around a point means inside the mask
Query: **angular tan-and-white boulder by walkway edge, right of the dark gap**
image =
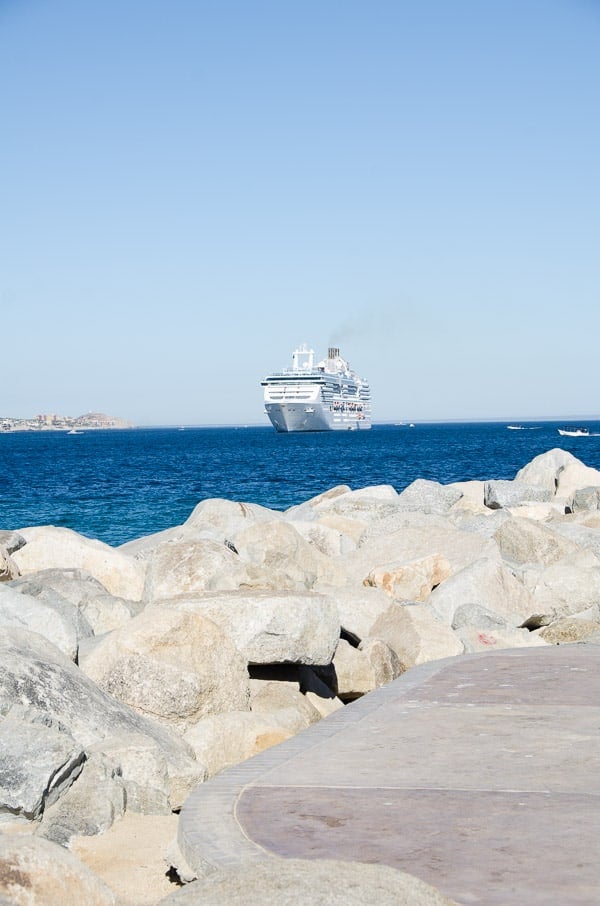
<svg viewBox="0 0 600 906"><path fill-rule="evenodd" d="M389 645L402 671L464 651L456 633L426 604L392 604L373 624L371 637Z"/></svg>

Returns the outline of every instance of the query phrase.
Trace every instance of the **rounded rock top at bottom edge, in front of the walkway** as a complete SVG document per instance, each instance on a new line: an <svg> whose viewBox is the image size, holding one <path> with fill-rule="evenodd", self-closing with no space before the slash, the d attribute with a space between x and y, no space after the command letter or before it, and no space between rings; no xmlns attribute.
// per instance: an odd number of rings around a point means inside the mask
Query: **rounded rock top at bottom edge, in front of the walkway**
<svg viewBox="0 0 600 906"><path fill-rule="evenodd" d="M159 906L456 906L419 878L366 862L280 859L194 881Z"/></svg>

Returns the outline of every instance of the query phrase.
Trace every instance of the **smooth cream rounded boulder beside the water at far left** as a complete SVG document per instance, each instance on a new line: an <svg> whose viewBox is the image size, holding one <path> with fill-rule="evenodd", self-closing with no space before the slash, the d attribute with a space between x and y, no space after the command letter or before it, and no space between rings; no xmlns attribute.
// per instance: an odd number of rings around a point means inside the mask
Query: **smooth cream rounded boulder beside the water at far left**
<svg viewBox="0 0 600 906"><path fill-rule="evenodd" d="M22 575L41 569L83 569L111 594L141 600L144 564L102 541L53 525L20 529L27 544L12 555Z"/></svg>

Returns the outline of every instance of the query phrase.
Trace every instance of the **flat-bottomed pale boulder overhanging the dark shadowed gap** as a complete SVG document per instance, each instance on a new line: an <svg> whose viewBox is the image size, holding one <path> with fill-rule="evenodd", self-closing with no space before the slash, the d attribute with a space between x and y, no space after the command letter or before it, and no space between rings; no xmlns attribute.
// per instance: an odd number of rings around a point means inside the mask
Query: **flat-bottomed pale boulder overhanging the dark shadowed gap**
<svg viewBox="0 0 600 906"><path fill-rule="evenodd" d="M333 598L315 592L220 592L167 606L212 620L249 664L328 664L340 635Z"/></svg>

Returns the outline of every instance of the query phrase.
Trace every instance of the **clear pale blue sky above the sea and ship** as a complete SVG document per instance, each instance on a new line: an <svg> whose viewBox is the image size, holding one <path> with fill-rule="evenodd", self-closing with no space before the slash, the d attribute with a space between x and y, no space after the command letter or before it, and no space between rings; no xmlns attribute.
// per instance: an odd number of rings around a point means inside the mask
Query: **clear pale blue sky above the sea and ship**
<svg viewBox="0 0 600 906"><path fill-rule="evenodd" d="M0 0L0 415L600 416L599 0Z"/></svg>

